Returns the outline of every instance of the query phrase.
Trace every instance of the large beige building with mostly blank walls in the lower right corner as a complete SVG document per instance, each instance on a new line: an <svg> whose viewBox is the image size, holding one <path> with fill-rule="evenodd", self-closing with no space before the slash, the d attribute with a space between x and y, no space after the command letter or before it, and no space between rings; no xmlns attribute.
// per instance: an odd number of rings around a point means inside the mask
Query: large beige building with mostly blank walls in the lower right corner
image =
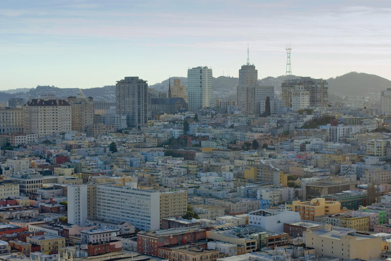
<svg viewBox="0 0 391 261"><path fill-rule="evenodd" d="M354 229L322 226L317 231L304 231L305 245L315 248L315 254L340 260L370 260L380 258L382 238L358 234Z"/></svg>

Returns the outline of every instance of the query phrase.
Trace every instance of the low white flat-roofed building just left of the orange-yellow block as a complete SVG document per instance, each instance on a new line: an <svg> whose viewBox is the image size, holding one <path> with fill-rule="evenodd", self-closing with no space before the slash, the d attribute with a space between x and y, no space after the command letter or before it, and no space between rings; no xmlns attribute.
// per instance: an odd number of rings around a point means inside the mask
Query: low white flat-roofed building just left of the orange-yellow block
<svg viewBox="0 0 391 261"><path fill-rule="evenodd" d="M300 221L300 213L281 209L260 209L248 214L248 224L261 229L283 232L284 223Z"/></svg>

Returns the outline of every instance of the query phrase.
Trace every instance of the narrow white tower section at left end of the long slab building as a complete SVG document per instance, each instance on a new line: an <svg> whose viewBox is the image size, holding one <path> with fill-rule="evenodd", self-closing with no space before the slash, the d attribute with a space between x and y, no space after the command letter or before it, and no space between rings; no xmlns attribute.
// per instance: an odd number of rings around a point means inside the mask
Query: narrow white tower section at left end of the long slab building
<svg viewBox="0 0 391 261"><path fill-rule="evenodd" d="M87 220L87 185L68 186L68 223L85 226Z"/></svg>

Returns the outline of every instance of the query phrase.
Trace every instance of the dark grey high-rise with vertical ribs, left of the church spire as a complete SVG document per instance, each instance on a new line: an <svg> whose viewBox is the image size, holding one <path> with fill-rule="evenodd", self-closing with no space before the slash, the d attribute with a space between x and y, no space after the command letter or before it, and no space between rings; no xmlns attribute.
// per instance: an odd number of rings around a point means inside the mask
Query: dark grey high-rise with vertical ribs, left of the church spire
<svg viewBox="0 0 391 261"><path fill-rule="evenodd" d="M148 123L148 83L125 77L115 85L116 111L127 116L128 127L140 129Z"/></svg>

